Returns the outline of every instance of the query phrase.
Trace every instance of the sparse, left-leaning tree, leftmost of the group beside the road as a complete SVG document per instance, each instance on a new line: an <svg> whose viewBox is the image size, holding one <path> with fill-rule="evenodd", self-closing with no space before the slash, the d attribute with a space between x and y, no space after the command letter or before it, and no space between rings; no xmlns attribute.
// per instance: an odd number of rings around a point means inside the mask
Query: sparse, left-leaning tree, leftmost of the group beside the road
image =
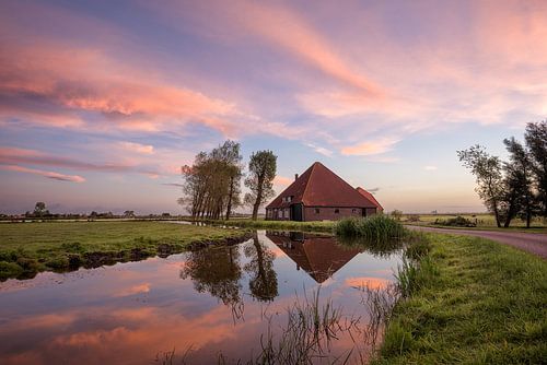
<svg viewBox="0 0 547 365"><path fill-rule="evenodd" d="M475 175L477 181L475 190L488 211L493 213L497 226L501 227L500 203L503 201L504 181L500 158L488 154L479 144L468 150L457 151L457 156L463 165Z"/></svg>

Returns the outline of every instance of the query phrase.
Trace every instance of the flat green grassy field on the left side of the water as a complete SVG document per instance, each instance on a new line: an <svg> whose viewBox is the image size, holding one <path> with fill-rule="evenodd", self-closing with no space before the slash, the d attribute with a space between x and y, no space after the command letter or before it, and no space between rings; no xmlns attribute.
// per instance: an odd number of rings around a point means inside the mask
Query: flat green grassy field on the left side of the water
<svg viewBox="0 0 547 365"><path fill-rule="evenodd" d="M137 260L234 239L243 232L161 222L0 224L0 280Z"/></svg>

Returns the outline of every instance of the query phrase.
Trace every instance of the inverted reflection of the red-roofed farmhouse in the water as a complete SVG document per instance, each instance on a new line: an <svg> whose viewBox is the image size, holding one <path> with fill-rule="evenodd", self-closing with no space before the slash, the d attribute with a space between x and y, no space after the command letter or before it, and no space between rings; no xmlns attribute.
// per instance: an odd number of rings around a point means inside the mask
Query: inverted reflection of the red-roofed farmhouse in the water
<svg viewBox="0 0 547 365"><path fill-rule="evenodd" d="M267 232L268 237L317 283L323 283L340 270L361 250L336 244L335 237L317 236L300 232Z"/></svg>

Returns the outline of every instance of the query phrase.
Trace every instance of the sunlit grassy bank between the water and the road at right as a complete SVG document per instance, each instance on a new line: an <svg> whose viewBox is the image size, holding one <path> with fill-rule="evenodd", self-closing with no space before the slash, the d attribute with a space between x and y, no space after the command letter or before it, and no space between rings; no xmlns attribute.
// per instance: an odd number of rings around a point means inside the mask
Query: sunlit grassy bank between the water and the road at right
<svg viewBox="0 0 547 365"><path fill-rule="evenodd" d="M540 364L547 262L476 237L428 234L399 272L403 299L376 364Z"/></svg>

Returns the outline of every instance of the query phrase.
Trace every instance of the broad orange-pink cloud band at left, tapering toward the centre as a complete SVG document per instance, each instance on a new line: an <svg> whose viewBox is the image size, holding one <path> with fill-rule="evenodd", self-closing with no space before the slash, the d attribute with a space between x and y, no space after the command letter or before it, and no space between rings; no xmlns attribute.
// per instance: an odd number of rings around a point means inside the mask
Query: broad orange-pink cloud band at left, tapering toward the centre
<svg viewBox="0 0 547 365"><path fill-rule="evenodd" d="M226 137L267 131L260 126L245 128L246 121L258 117L240 110L234 103L171 84L98 49L45 40L32 47L9 43L2 47L0 92L19 101L0 104L4 120L105 132L182 131L190 123L205 125ZM49 107L25 104L36 97ZM101 118L92 123L82 113L95 113ZM271 127L277 125L270 122Z"/></svg>

